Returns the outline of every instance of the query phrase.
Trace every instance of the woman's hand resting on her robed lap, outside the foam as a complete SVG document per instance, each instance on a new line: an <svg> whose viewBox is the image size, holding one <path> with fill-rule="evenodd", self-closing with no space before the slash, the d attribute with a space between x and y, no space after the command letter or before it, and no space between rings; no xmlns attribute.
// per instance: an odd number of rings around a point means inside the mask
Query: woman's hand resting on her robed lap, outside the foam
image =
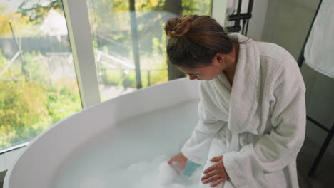
<svg viewBox="0 0 334 188"><path fill-rule="evenodd" d="M216 164L213 164L211 167L208 167L206 170L204 170L204 176L201 178L201 181L203 184L213 182L210 186L216 187L221 182L226 181L226 179L229 177L223 165L222 155L213 157L210 161L216 162Z"/></svg>

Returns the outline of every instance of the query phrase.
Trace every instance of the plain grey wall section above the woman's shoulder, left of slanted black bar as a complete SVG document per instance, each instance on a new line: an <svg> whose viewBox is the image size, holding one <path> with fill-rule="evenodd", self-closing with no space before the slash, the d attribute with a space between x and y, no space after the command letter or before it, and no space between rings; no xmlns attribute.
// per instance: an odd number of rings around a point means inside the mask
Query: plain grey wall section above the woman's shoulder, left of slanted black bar
<svg viewBox="0 0 334 188"><path fill-rule="evenodd" d="M263 41L277 43L297 59L319 0L270 0Z"/></svg>

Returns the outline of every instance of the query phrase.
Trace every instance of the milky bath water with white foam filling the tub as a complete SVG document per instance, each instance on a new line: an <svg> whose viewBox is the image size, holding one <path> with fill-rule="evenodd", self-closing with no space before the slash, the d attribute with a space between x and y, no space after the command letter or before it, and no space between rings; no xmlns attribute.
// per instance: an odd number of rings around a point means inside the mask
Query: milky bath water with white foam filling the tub
<svg viewBox="0 0 334 188"><path fill-rule="evenodd" d="M111 125L67 157L51 187L198 187L201 167L191 177L181 175L168 184L161 183L159 172L159 165L180 152L191 135L197 105L182 103Z"/></svg>

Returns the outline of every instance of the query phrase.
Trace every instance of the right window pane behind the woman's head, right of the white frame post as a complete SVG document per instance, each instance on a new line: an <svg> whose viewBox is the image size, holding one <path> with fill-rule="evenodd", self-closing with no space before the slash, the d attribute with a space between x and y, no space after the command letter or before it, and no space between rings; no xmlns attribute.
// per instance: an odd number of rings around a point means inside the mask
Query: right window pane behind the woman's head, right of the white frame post
<svg viewBox="0 0 334 188"><path fill-rule="evenodd" d="M163 24L180 14L210 14L210 0L88 0L101 100L180 78L168 69ZM169 73L168 73L168 70Z"/></svg>

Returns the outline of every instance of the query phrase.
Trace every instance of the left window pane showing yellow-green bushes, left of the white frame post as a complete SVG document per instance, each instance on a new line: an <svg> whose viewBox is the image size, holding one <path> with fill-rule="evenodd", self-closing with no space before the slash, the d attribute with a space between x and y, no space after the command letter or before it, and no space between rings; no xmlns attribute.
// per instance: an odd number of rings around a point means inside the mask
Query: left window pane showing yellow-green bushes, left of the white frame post
<svg viewBox="0 0 334 188"><path fill-rule="evenodd" d="M61 1L0 0L0 150L79 110Z"/></svg>

